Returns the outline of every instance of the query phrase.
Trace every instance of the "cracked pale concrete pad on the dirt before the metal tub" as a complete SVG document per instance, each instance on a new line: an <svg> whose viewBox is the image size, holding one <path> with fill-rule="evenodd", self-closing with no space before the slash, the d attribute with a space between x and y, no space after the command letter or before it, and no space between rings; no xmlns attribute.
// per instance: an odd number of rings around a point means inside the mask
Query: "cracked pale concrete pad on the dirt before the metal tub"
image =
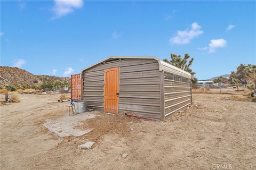
<svg viewBox="0 0 256 170"><path fill-rule="evenodd" d="M90 132L92 129L80 130L75 128L75 126L79 125L82 121L93 117L95 117L93 112L70 116L67 114L62 117L47 119L43 126L61 138L71 135L79 137Z"/></svg>

